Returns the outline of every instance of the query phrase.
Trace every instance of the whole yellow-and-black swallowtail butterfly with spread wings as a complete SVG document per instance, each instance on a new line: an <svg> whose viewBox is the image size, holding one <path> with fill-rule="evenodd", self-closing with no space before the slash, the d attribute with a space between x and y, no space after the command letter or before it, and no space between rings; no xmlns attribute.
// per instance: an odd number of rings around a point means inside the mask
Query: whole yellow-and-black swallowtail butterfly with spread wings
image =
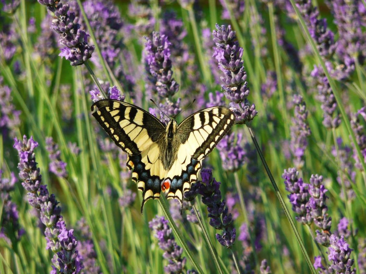
<svg viewBox="0 0 366 274"><path fill-rule="evenodd" d="M132 180L142 191L141 213L145 202L158 199L161 191L183 208L183 195L197 180L202 160L235 122L232 111L223 106L199 110L179 125L175 119L164 125L140 107L112 99L97 101L91 112L127 153Z"/></svg>

